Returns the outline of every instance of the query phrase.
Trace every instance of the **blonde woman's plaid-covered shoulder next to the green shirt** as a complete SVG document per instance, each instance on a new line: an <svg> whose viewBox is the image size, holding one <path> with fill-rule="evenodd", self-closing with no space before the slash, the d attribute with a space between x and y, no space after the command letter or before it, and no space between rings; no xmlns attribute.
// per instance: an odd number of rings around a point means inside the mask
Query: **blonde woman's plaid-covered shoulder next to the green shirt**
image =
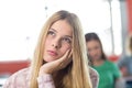
<svg viewBox="0 0 132 88"><path fill-rule="evenodd" d="M99 75L98 75L97 70L95 70L91 67L89 67L89 73L90 73L90 78L91 78L92 86L94 86L94 88L97 88L98 82L99 82Z"/></svg>

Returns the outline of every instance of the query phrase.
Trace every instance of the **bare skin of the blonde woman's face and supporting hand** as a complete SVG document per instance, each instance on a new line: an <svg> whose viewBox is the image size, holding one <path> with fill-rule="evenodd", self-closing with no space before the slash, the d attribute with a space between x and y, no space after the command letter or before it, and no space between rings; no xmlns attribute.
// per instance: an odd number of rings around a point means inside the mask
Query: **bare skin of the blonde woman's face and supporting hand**
<svg viewBox="0 0 132 88"><path fill-rule="evenodd" d="M47 62L40 68L40 75L53 74L65 68L72 58L73 31L65 20L55 22L48 30L43 59Z"/></svg>

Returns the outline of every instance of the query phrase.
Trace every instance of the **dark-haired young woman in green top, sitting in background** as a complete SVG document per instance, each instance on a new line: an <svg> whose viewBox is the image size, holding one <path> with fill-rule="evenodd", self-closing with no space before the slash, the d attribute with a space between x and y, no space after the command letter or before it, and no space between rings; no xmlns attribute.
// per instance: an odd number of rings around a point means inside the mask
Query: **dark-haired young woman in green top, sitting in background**
<svg viewBox="0 0 132 88"><path fill-rule="evenodd" d="M96 33L87 33L85 37L90 65L99 74L98 88L114 88L114 84L120 77L118 66L107 59L101 41Z"/></svg>

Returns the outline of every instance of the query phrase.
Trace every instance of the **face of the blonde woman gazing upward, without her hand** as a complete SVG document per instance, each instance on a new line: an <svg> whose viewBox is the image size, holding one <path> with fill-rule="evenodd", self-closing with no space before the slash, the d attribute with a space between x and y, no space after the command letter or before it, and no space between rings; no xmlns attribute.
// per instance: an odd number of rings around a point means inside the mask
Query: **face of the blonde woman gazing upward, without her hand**
<svg viewBox="0 0 132 88"><path fill-rule="evenodd" d="M55 22L48 30L43 58L52 62L61 58L66 51L72 48L73 31L65 20Z"/></svg>

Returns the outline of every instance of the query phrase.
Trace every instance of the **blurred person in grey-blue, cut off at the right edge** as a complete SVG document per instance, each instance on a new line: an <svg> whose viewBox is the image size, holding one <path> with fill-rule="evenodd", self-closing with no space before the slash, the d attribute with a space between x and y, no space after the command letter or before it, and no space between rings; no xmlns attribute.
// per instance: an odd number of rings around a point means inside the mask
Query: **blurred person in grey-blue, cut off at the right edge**
<svg viewBox="0 0 132 88"><path fill-rule="evenodd" d="M132 34L127 38L127 54L120 57L118 66L125 88L132 88Z"/></svg>

